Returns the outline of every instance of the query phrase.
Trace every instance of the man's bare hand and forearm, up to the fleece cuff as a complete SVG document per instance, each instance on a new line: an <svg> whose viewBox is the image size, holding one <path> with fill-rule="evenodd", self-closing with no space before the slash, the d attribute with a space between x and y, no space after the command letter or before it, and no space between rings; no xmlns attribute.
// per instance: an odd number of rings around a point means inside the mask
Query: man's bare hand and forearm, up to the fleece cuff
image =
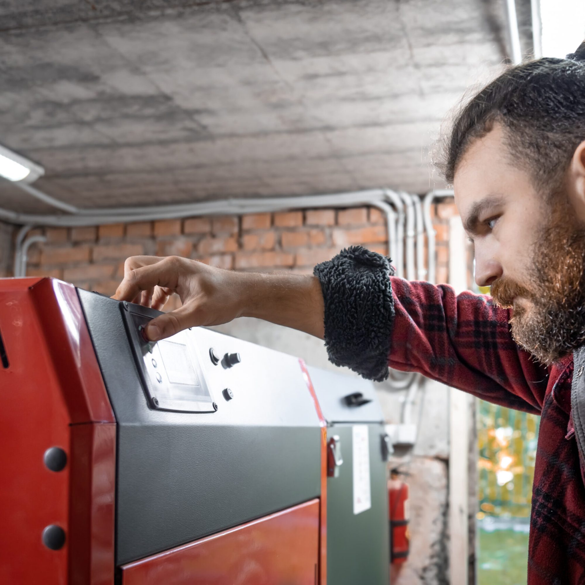
<svg viewBox="0 0 585 585"><path fill-rule="evenodd" d="M313 276L234 272L177 256L133 256L113 298L160 310L174 292L183 306L150 322L146 335L152 341L240 316L324 335L321 284Z"/></svg>

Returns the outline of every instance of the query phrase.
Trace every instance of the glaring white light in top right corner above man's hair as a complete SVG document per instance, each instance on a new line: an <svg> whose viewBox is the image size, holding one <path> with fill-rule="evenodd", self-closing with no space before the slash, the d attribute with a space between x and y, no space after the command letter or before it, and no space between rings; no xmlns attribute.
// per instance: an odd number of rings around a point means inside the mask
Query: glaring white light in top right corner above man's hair
<svg viewBox="0 0 585 585"><path fill-rule="evenodd" d="M563 59L585 39L583 0L540 0L542 56Z"/></svg>

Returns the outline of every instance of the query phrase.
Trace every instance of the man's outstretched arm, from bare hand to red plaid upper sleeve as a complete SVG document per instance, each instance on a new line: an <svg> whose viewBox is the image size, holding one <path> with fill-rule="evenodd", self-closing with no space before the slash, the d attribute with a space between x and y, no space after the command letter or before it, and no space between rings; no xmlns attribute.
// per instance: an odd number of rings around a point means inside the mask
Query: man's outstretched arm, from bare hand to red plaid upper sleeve
<svg viewBox="0 0 585 585"><path fill-rule="evenodd" d="M177 257L126 261L119 300L183 307L150 323L152 340L197 325L253 316L325 340L332 363L372 380L388 365L512 408L539 412L548 371L512 339L509 312L483 295L394 277L360 246L318 264L315 276L238 273Z"/></svg>

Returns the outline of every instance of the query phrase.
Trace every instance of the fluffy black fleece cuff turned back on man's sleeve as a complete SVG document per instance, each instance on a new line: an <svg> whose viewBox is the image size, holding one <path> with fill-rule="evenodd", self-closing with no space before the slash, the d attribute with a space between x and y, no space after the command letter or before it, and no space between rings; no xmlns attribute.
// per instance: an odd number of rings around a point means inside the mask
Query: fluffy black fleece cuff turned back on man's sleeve
<svg viewBox="0 0 585 585"><path fill-rule="evenodd" d="M325 301L329 361L369 380L386 380L394 322L390 259L351 246L317 264L313 274Z"/></svg>

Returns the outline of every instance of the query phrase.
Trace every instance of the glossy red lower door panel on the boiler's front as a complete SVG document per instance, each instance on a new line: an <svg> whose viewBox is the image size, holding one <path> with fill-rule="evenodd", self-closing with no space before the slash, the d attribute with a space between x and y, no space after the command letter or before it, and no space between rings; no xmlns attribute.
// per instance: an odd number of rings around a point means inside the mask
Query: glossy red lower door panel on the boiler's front
<svg viewBox="0 0 585 585"><path fill-rule="evenodd" d="M123 585L315 585L319 500L121 567Z"/></svg>

